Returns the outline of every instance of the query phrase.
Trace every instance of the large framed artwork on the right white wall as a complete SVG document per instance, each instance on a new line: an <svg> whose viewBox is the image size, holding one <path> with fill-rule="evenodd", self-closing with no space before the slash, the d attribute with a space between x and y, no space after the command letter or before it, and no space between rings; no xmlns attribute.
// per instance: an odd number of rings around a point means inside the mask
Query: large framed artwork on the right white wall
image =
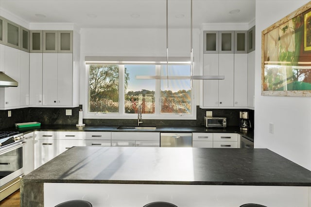
<svg viewBox="0 0 311 207"><path fill-rule="evenodd" d="M311 1L261 32L261 95L311 96Z"/></svg>

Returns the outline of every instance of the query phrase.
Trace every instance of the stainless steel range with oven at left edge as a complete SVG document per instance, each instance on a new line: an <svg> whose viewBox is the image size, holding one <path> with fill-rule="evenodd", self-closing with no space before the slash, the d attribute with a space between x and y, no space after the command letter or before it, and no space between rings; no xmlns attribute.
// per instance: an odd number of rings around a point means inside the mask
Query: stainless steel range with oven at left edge
<svg viewBox="0 0 311 207"><path fill-rule="evenodd" d="M19 189L24 140L18 131L0 131L0 201Z"/></svg>

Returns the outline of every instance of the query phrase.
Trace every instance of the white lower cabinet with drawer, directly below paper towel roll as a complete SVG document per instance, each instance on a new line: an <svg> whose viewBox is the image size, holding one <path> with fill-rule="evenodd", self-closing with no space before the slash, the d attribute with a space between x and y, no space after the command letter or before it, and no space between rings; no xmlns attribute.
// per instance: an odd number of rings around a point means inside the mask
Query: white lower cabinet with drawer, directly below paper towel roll
<svg viewBox="0 0 311 207"><path fill-rule="evenodd" d="M85 146L82 131L60 131L59 132L59 154L73 146Z"/></svg>

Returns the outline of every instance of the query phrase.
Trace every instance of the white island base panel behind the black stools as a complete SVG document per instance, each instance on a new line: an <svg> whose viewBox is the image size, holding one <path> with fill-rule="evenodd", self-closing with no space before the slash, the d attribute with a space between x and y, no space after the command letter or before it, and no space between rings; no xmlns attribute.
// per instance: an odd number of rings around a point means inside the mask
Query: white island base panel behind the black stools
<svg viewBox="0 0 311 207"><path fill-rule="evenodd" d="M75 199L93 207L143 207L155 201L177 207L311 207L311 187L44 183L44 207Z"/></svg>

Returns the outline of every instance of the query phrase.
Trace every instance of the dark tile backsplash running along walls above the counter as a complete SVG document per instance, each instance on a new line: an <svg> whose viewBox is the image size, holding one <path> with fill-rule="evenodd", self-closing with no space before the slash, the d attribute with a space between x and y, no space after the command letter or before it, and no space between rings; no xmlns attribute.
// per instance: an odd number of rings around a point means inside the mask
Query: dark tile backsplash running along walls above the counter
<svg viewBox="0 0 311 207"><path fill-rule="evenodd" d="M15 123L40 122L44 125L75 125L78 123L79 110L82 108L24 108L0 111L0 129L14 127ZM66 115L66 110L72 110ZM8 117L11 111L11 117ZM160 120L144 119L144 125L157 126L202 126L206 111L213 111L214 117L226 117L227 126L240 125L240 111L249 111L252 126L254 126L254 111L241 109L201 109L196 107L196 120ZM84 119L86 125L137 125L137 119Z"/></svg>

